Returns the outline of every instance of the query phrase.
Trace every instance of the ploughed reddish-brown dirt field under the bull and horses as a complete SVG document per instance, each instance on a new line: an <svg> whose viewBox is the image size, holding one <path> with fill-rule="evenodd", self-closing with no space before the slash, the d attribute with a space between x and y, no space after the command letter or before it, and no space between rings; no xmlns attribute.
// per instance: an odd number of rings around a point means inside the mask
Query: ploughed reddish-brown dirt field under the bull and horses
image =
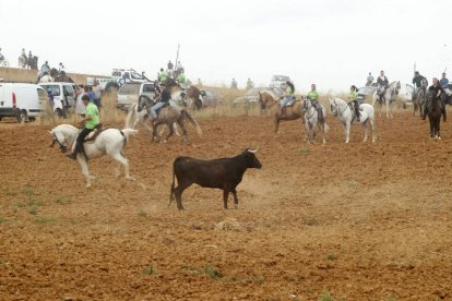
<svg viewBox="0 0 452 301"><path fill-rule="evenodd" d="M0 123L0 300L452 299L452 130L428 139L408 112L377 120L379 141L308 146L300 121L202 120L203 137L127 146L135 182L49 148L50 127ZM235 156L259 146L261 170L222 193L192 186L167 207L176 156ZM233 200L229 200L231 205ZM329 300L323 298L322 300Z"/></svg>

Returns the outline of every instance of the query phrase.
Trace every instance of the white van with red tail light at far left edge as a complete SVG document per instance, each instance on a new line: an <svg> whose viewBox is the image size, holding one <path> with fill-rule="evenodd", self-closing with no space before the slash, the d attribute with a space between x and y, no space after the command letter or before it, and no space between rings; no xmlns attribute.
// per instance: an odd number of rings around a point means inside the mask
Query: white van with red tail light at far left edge
<svg viewBox="0 0 452 301"><path fill-rule="evenodd" d="M0 120L15 117L17 122L34 121L41 111L47 93L35 84L0 83Z"/></svg>

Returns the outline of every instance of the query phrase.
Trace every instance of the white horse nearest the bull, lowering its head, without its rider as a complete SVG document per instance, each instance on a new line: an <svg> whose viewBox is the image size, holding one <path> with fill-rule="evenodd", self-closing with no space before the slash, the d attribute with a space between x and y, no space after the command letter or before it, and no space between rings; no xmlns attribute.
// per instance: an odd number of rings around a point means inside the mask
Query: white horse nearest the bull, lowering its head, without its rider
<svg viewBox="0 0 452 301"><path fill-rule="evenodd" d="M55 127L49 133L53 137L53 142L58 143L62 153L68 150L67 145L71 146L73 150L75 147L75 141L79 135L80 130L71 124L60 124ZM122 155L122 149L126 146L126 142L129 140L131 134L138 133L138 130L132 129L107 129L104 130L93 142L85 142L83 144L84 154L79 153L76 155L76 159L82 167L82 172L86 177L86 186L91 186L91 180L94 179L93 176L90 174L87 160L102 157L104 155L108 155L118 161L120 165L123 166L126 172L126 179L134 180L129 173L129 161ZM121 176L120 166L118 167L117 176Z"/></svg>

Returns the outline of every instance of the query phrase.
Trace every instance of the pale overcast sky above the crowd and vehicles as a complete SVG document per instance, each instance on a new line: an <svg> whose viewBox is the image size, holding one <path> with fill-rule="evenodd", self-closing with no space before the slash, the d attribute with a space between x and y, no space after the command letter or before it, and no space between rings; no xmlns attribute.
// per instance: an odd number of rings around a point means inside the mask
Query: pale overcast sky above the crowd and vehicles
<svg viewBox="0 0 452 301"><path fill-rule="evenodd" d="M204 84L267 85L289 75L298 91L347 91L368 72L409 82L452 74L451 0L0 0L0 47L22 48L69 72L133 68L154 79L180 60ZM451 76L452 77L452 76Z"/></svg>

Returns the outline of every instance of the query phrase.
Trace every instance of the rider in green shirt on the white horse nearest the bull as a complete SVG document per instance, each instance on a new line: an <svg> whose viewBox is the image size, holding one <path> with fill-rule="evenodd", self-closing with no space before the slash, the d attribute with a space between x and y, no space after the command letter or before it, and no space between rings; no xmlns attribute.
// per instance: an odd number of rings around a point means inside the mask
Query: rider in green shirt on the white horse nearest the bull
<svg viewBox="0 0 452 301"><path fill-rule="evenodd" d="M76 159L76 154L83 152L83 141L85 137L99 125L99 111L93 103L90 101L90 96L82 96L83 105L86 107L86 117L80 121L81 125L84 125L83 130L76 137L74 150L67 156L71 159Z"/></svg>

